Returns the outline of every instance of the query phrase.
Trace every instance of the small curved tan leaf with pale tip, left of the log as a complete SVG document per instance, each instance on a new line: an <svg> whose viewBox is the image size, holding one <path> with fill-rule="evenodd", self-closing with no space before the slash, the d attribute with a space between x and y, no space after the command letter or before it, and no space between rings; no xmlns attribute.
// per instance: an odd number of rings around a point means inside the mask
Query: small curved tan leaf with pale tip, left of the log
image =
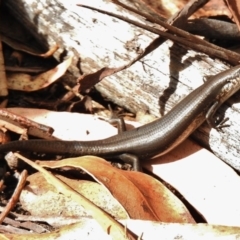
<svg viewBox="0 0 240 240"><path fill-rule="evenodd" d="M34 79L30 75L24 73L8 73L8 88L32 92L48 87L67 71L71 63L72 57L69 57L55 68L34 77Z"/></svg>

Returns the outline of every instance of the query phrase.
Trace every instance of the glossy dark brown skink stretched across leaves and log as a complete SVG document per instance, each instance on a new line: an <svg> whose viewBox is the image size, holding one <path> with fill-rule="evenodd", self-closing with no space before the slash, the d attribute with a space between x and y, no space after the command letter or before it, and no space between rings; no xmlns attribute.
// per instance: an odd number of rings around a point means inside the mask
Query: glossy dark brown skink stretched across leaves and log
<svg viewBox="0 0 240 240"><path fill-rule="evenodd" d="M140 170L139 160L163 155L185 140L205 120L217 128L217 108L240 88L240 65L209 78L165 116L154 122L96 141L27 140L0 145L0 152L35 151L118 157Z"/></svg>

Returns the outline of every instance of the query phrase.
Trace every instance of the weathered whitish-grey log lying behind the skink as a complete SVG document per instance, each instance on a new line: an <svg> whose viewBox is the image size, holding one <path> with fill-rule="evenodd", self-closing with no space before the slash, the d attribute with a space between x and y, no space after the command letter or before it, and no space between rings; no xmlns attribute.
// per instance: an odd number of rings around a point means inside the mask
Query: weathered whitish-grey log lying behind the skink
<svg viewBox="0 0 240 240"><path fill-rule="evenodd" d="M76 3L94 4L108 11L138 19L112 3L65 0L4 1L14 15L45 45L60 45L63 52L74 54L70 71L79 76L102 67L119 67L136 57L157 36L95 11L77 7ZM141 19L139 20L141 21ZM227 66L208 56L187 51L165 42L129 69L107 77L97 89L107 98L132 112L148 110L160 116L181 98L203 83L203 77L214 75ZM194 133L199 141L221 159L240 170L240 98L235 96L219 112L230 118L230 128L217 132L204 124ZM230 104L234 103L234 108Z"/></svg>

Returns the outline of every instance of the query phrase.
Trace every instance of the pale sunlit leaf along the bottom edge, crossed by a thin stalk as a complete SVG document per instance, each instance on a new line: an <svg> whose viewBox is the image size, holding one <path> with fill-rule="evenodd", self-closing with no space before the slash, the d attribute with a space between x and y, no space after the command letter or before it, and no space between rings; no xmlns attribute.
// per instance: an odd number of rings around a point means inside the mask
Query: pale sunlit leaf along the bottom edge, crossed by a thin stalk
<svg viewBox="0 0 240 240"><path fill-rule="evenodd" d="M179 224L157 223L143 220L120 220L132 232L142 236L143 240L238 240L239 227L217 226L209 224ZM106 234L96 221L92 219L79 219L79 223L61 227L51 233L42 234L0 234L1 239L35 240L35 239L112 239Z"/></svg>

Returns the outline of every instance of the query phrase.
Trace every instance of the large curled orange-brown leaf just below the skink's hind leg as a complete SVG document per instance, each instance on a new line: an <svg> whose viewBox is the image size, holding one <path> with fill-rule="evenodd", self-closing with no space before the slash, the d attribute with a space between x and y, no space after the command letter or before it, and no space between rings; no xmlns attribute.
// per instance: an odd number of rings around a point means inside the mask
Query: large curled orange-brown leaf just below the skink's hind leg
<svg viewBox="0 0 240 240"><path fill-rule="evenodd" d="M118 170L94 156L68 158L57 162L41 161L39 164L50 168L68 166L83 169L106 186L133 219L194 222L179 199L160 182L144 173Z"/></svg>

